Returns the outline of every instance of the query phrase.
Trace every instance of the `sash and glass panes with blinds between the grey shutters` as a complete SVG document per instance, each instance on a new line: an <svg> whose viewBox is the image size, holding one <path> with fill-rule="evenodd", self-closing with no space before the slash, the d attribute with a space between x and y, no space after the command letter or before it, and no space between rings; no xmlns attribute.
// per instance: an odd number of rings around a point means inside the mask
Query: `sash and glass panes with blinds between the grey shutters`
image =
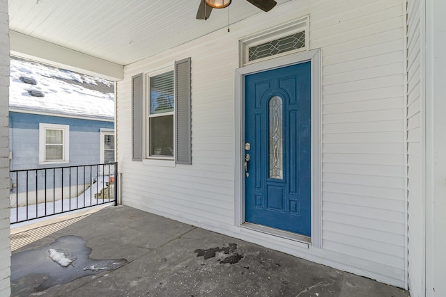
<svg viewBox="0 0 446 297"><path fill-rule="evenodd" d="M148 156L174 157L174 71L149 77Z"/></svg>

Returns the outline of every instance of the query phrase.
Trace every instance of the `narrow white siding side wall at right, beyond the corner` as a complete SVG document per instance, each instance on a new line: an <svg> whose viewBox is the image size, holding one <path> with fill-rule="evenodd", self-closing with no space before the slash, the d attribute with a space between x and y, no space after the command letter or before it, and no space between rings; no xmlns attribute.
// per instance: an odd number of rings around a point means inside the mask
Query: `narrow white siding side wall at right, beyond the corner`
<svg viewBox="0 0 446 297"><path fill-rule="evenodd" d="M421 13L419 0L407 1L408 13L408 277L410 295L424 296L424 213L422 190L424 152L422 148Z"/></svg>

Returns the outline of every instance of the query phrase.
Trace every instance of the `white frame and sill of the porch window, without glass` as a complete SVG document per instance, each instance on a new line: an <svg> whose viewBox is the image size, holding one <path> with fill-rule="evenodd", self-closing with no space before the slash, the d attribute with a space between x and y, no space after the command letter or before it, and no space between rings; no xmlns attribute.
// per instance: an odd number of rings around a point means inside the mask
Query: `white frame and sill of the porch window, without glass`
<svg viewBox="0 0 446 297"><path fill-rule="evenodd" d="M146 72L144 73L144 79L145 79L145 83L143 84L144 86L144 90L143 90L143 94L144 94L144 98L143 98L143 104L144 104L144 129L143 129L143 138L144 138L144 158L143 158L143 164L144 165L151 165L151 166L168 166L168 167L175 167L175 159L176 159L176 152L175 152L175 147L176 147L176 120L175 120L175 115L176 115L176 108L174 104L174 111L169 111L167 113L156 113L151 115L150 113L150 95L151 95L151 77L155 77L158 74L163 74L169 71L174 71L174 77L175 77L175 70L174 70L174 65L169 65L166 67L161 67L158 70L152 71L152 72ZM174 90L176 90L176 86L175 86L175 78L174 78ZM174 93L174 102L176 102L176 96ZM151 156L150 155L150 135L149 135L149 131L150 131L150 127L149 127L149 122L150 122L150 118L154 118L157 116L163 116L163 115L173 115L174 116L174 156Z"/></svg>

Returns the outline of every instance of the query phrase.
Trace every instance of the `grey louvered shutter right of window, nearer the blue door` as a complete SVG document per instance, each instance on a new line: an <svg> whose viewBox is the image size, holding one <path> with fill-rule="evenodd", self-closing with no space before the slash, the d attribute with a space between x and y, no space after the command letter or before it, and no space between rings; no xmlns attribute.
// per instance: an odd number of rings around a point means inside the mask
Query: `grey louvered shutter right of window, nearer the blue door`
<svg viewBox="0 0 446 297"><path fill-rule="evenodd" d="M190 58L175 62L176 163L192 164Z"/></svg>

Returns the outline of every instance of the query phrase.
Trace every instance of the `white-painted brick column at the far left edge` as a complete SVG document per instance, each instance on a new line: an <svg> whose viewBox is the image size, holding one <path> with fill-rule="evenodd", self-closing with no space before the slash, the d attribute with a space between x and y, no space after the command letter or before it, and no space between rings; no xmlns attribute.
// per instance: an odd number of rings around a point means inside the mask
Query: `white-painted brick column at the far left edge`
<svg viewBox="0 0 446 297"><path fill-rule="evenodd" d="M8 1L0 0L0 296L10 295Z"/></svg>

